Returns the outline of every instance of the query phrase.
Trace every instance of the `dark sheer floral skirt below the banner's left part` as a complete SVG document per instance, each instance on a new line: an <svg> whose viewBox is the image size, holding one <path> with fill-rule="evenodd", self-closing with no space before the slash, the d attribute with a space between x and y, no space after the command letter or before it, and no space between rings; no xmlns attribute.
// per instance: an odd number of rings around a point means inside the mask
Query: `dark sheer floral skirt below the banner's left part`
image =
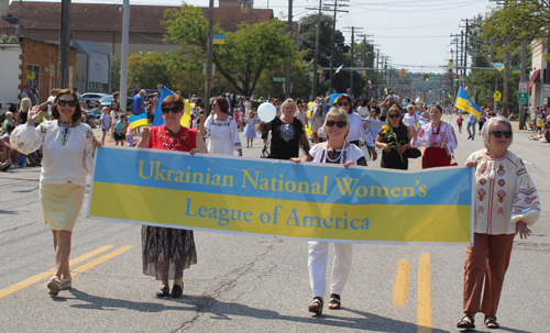
<svg viewBox="0 0 550 333"><path fill-rule="evenodd" d="M197 264L191 230L143 225L141 236L144 275L180 279L184 269Z"/></svg>

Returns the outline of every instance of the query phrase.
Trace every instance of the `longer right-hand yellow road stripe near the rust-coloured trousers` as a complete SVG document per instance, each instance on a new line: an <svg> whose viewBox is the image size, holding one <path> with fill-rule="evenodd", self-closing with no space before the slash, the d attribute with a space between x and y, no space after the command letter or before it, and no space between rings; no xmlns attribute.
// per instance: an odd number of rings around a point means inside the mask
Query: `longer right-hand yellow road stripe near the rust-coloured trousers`
<svg viewBox="0 0 550 333"><path fill-rule="evenodd" d="M421 253L418 264L417 333L431 333L430 254Z"/></svg>

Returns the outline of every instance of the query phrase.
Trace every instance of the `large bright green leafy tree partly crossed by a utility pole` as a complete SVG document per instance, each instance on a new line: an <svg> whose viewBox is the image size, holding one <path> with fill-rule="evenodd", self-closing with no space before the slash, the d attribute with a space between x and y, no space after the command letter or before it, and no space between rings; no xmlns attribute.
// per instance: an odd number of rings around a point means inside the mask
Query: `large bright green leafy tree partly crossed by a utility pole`
<svg viewBox="0 0 550 333"><path fill-rule="evenodd" d="M205 59L208 22L201 10L183 4L179 10L167 10L166 19L162 22L168 32L165 42L180 44L197 60ZM299 59L293 36L287 34L285 22L278 20L253 25L243 23L234 33L224 32L217 24L213 33L226 35L224 44L212 47L216 73L223 76L231 88L245 96L252 95L264 70Z"/></svg>

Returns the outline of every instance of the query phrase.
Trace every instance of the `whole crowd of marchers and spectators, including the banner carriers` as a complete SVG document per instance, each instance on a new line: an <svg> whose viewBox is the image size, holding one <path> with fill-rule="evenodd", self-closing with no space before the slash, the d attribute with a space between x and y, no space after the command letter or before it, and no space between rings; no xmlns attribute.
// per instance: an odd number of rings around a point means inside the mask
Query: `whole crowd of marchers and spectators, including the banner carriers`
<svg viewBox="0 0 550 333"><path fill-rule="evenodd" d="M84 202L86 176L94 168L94 156L105 144L110 130L116 144L128 138L127 115L114 98L110 108L102 108L98 124L102 136L96 138L87 124L78 95L70 89L52 91L47 103L33 104L23 98L16 116L7 114L2 131L8 140L0 141L2 166L7 160L42 165L40 198L45 223L53 232L55 251L54 276L47 288L52 296L72 288L68 266L70 238ZM114 96L119 96L116 93ZM134 97L133 113L146 111L146 92ZM447 110L438 104L422 110L414 103L402 111L402 101L391 92L380 104L376 100L354 100L348 95L336 99L318 97L308 106L305 100L287 99L270 102L276 109L271 121L258 119L249 99L216 96L210 100L212 112L205 114L204 101L194 97L193 114L187 126L182 125L185 101L179 93L162 101L148 96L151 108L161 103L163 125L145 126L136 146L213 155L242 156L240 129L246 147L253 146L256 134L264 140L262 157L300 163L338 164L366 167L377 159L375 148L382 151L381 167L408 169L408 159L422 155L422 168L450 167L459 148L454 127L441 120ZM97 106L96 106L97 108ZM156 109L156 108L154 108ZM308 115L308 111L310 114ZM480 121L470 115L469 138L475 137L477 122L483 148L473 153L465 166L475 169L474 244L466 247L464 265L464 317L458 328L473 329L474 315L484 313L484 324L495 329L503 280L508 267L512 244L516 235L529 236L529 226L540 215L537 189L519 156L509 151L514 132L510 122L492 111L482 110ZM457 124L462 132L462 116ZM373 137L373 121L385 125ZM124 125L127 127L124 127ZM307 132L310 131L308 135ZM546 127L544 133L548 132ZM132 131L130 130L130 137ZM310 146L312 144L312 146ZM366 147L366 153L361 146ZM418 149L425 147L424 154ZM305 159L300 158L302 149ZM498 196L486 193L498 191ZM495 213L497 212L497 213ZM324 306L326 273L329 243L309 242L308 268L312 292L310 312L321 314ZM342 292L351 271L353 247L334 243L334 263L331 271L329 309L340 309ZM197 264L197 249L190 230L143 226L143 273L161 281L157 297L178 298L184 292L184 270ZM172 290L169 280L172 282ZM483 300L482 300L483 291Z"/></svg>

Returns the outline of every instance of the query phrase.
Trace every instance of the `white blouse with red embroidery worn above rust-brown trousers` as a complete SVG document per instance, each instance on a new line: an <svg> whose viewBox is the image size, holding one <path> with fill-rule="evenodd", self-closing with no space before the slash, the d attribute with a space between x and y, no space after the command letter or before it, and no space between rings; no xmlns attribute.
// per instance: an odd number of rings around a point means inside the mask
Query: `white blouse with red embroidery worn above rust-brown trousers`
<svg viewBox="0 0 550 333"><path fill-rule="evenodd" d="M539 197L521 157L508 151L502 158L491 158L477 151L466 163L474 160L476 233L513 234L517 221L531 225L539 219Z"/></svg>

